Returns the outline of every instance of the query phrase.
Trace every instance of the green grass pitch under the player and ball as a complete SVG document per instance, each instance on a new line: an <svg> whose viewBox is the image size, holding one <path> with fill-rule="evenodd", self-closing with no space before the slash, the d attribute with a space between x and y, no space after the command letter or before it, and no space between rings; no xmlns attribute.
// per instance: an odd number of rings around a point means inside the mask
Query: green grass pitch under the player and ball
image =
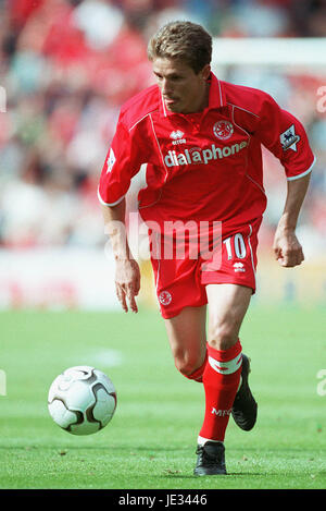
<svg viewBox="0 0 326 511"><path fill-rule="evenodd" d="M325 309L252 305L241 330L259 402L252 431L230 418L227 476L197 478L203 388L174 367L159 313L0 314L1 488L325 488ZM57 426L50 384L73 365L95 365L115 384L112 422L89 437ZM3 390L3 389L2 389ZM2 391L3 393L3 391Z"/></svg>

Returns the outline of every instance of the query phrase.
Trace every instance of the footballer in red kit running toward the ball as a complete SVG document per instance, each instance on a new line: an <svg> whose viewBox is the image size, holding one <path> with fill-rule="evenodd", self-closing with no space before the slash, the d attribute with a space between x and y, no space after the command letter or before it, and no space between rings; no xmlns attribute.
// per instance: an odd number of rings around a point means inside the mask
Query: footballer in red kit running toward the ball
<svg viewBox="0 0 326 511"><path fill-rule="evenodd" d="M268 94L213 74L212 38L202 26L166 24L149 41L148 56L156 85L122 107L98 188L116 294L124 311L137 312L140 270L117 226L126 221L130 180L146 163L139 212L150 226L161 315L176 368L204 387L195 475L226 474L230 415L250 430L258 413L239 332L255 292L258 233L266 207L262 146L285 169L287 197L273 248L288 268L304 259L296 227L315 158L300 121ZM202 224L205 250L193 256ZM183 255L173 248L180 240ZM172 246L168 257L158 250L163 244Z"/></svg>

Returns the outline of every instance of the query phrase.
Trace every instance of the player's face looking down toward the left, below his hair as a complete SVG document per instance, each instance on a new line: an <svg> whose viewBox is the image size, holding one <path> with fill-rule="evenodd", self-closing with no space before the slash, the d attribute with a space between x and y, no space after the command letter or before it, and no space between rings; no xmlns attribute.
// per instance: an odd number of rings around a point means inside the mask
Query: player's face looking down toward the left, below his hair
<svg viewBox="0 0 326 511"><path fill-rule="evenodd" d="M153 73L166 108L175 113L198 112L206 106L210 72L209 64L196 74L192 68L181 61L153 60Z"/></svg>

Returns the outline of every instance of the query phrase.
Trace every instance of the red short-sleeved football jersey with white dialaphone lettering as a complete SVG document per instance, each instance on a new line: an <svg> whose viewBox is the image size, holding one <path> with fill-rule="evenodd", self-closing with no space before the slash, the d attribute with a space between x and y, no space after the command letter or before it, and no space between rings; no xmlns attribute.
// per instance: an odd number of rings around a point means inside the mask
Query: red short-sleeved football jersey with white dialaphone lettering
<svg viewBox="0 0 326 511"><path fill-rule="evenodd" d="M222 221L224 232L259 218L266 207L264 145L288 180L314 163L305 131L266 93L211 74L209 107L174 113L153 85L122 108L99 183L99 199L113 206L147 163L138 195L145 221ZM161 231L162 232L162 231Z"/></svg>

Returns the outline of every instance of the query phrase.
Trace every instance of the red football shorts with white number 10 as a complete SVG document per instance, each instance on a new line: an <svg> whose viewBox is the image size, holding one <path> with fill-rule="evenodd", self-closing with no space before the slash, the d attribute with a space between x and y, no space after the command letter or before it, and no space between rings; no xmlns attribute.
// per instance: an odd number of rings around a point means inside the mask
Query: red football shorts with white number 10
<svg viewBox="0 0 326 511"><path fill-rule="evenodd" d="M205 305L208 284L240 284L254 293L261 221L259 218L237 232L221 234L218 242L202 251L193 251L193 243L186 239L177 252L175 239L166 242L166 236L151 233L151 263L163 318L177 316L184 307Z"/></svg>

